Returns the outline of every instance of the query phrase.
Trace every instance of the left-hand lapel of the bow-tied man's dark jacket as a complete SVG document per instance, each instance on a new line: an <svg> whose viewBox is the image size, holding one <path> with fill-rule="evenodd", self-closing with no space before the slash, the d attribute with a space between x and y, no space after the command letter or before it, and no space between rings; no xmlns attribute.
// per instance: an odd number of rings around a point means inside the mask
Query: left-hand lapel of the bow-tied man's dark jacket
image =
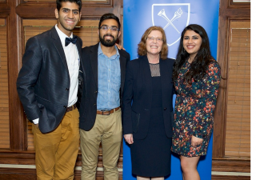
<svg viewBox="0 0 256 180"><path fill-rule="evenodd" d="M58 51L59 56L62 58L63 65L66 67L66 70L69 72L69 69L67 67L66 63L66 56L62 47L61 39L58 36L57 30L55 29L55 26L51 29L52 32L52 38L54 38L54 46L56 50Z"/></svg>

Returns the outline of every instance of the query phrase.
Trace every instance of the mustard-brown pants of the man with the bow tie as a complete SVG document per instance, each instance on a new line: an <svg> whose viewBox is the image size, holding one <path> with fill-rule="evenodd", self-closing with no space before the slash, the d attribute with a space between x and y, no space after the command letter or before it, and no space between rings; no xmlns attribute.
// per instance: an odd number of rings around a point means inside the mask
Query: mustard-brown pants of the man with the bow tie
<svg viewBox="0 0 256 180"><path fill-rule="evenodd" d="M42 134L34 124L32 131L37 179L74 179L79 146L78 109L67 112L57 129L50 133Z"/></svg>

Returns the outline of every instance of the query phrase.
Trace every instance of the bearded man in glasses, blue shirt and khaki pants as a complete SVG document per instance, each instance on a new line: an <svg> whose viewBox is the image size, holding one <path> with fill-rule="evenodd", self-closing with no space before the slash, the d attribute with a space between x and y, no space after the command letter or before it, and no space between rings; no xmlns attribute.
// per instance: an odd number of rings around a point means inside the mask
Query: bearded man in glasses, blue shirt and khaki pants
<svg viewBox="0 0 256 180"><path fill-rule="evenodd" d="M117 162L122 141L120 105L130 54L114 46L121 34L119 19L114 14L102 16L98 34L100 43L82 49L81 178L95 179L98 148L102 142L104 179L118 180Z"/></svg>

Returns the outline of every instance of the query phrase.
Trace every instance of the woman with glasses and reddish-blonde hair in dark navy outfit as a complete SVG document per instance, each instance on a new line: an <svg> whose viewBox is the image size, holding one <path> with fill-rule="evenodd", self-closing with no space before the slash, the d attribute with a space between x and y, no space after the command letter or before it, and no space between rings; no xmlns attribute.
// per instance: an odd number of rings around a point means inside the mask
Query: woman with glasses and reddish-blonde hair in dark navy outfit
<svg viewBox="0 0 256 180"><path fill-rule="evenodd" d="M140 58L126 66L123 134L138 180L170 174L174 59L167 58L167 50L164 30L151 26L138 44Z"/></svg>

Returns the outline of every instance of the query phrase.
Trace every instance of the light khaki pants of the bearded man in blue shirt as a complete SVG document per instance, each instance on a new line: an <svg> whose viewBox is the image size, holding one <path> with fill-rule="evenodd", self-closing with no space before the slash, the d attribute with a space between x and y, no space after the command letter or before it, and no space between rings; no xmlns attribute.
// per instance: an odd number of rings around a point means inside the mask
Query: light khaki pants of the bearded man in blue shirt
<svg viewBox="0 0 256 180"><path fill-rule="evenodd" d="M98 148L102 142L104 180L118 180L118 157L122 141L121 109L110 115L97 114L94 127L80 129L82 151L82 180L94 180L98 162Z"/></svg>

